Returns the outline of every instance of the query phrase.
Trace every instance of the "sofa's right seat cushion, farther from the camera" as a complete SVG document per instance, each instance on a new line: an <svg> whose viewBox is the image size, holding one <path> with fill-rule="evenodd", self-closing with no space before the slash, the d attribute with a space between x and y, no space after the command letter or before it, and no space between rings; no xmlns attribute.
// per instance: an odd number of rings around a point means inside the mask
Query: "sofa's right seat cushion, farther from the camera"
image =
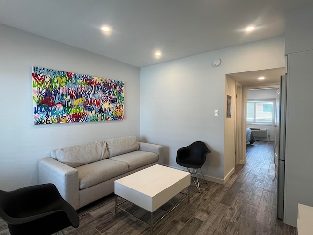
<svg viewBox="0 0 313 235"><path fill-rule="evenodd" d="M128 170L135 170L141 166L157 162L158 155L152 152L133 151L110 158L128 164Z"/></svg>

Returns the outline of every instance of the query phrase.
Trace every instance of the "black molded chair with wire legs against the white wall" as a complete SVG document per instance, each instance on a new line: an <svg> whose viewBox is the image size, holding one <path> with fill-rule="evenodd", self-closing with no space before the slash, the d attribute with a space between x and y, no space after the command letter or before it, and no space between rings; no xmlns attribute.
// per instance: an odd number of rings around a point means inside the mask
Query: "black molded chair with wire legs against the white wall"
<svg viewBox="0 0 313 235"><path fill-rule="evenodd" d="M197 170L200 169L203 179L205 180L201 167L205 163L206 155L210 152L211 150L208 149L205 143L201 141L193 142L189 146L182 147L177 150L176 163L185 167L185 169L187 168L188 172L191 173L192 179L199 192L200 186ZM195 180L193 174L196 176L197 181Z"/></svg>

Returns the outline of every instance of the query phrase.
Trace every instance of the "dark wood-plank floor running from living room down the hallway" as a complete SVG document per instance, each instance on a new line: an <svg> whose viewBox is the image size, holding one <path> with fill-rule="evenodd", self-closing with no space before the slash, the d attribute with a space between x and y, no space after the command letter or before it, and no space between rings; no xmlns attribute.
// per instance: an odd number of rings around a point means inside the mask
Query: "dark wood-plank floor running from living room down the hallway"
<svg viewBox="0 0 313 235"><path fill-rule="evenodd" d="M236 165L225 185L201 180L201 192L191 186L190 203L183 202L156 225L154 235L296 235L296 228L276 219L274 143L257 141L247 147L245 165ZM145 235L149 228L124 212L114 214L110 195L80 209L78 229L66 235ZM131 208L136 212L136 207ZM144 217L145 214L142 214ZM0 235L9 234L0 220Z"/></svg>

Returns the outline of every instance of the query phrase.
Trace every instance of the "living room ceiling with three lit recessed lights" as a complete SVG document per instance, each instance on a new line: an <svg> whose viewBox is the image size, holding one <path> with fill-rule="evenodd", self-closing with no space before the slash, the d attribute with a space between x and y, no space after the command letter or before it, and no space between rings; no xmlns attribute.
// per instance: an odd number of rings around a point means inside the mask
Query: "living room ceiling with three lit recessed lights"
<svg viewBox="0 0 313 235"><path fill-rule="evenodd" d="M313 0L0 0L0 23L148 66L284 35ZM109 33L101 30L108 25ZM248 25L255 30L247 33ZM162 51L160 58L154 57Z"/></svg>

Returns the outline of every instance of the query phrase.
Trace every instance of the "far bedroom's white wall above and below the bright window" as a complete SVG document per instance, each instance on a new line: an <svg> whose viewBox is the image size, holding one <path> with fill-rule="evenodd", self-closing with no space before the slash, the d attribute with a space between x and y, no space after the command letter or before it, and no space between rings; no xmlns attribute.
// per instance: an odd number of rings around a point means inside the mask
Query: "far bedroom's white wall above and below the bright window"
<svg viewBox="0 0 313 235"><path fill-rule="evenodd" d="M248 90L248 99L275 99L276 100L277 90L278 88ZM274 117L274 120L275 120L275 117ZM261 141L275 141L275 127L273 125L247 124L247 127L267 128L268 129L267 137L256 137L256 139L261 140ZM270 138L268 138L268 135L270 136Z"/></svg>

